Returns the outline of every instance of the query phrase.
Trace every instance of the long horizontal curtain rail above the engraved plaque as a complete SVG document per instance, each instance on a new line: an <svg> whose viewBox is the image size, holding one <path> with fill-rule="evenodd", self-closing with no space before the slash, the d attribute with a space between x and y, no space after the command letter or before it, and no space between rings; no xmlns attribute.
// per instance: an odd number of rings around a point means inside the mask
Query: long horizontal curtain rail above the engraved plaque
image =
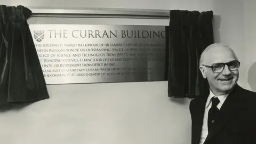
<svg viewBox="0 0 256 144"><path fill-rule="evenodd" d="M169 19L170 10L29 7L32 17Z"/></svg>

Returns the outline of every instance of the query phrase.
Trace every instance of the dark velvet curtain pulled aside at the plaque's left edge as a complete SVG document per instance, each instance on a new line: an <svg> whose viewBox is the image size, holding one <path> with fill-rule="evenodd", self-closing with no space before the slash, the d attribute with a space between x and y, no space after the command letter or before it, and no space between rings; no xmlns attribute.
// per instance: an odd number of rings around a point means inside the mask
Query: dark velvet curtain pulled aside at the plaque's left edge
<svg viewBox="0 0 256 144"><path fill-rule="evenodd" d="M35 102L49 94L24 6L0 5L0 103Z"/></svg>

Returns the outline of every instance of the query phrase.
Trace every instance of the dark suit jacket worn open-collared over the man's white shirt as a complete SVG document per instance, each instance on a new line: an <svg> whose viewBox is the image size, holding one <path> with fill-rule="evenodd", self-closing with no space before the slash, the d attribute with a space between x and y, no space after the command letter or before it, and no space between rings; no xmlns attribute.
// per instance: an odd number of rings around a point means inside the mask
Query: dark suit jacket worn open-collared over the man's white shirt
<svg viewBox="0 0 256 144"><path fill-rule="evenodd" d="M199 144L209 93L190 102L191 144ZM204 144L256 144L256 93L235 85Z"/></svg>

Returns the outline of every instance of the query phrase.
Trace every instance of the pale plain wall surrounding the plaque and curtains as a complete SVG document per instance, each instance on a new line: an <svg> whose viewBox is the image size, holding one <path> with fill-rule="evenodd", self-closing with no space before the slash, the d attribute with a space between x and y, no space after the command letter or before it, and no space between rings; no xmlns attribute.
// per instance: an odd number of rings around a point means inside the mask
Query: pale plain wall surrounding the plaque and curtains
<svg viewBox="0 0 256 144"><path fill-rule="evenodd" d="M12 5L213 10L216 42L231 45L243 63L244 3L239 0L11 0ZM218 16L219 15L219 16ZM30 19L30 23L63 19ZM69 19L66 23L168 25L168 20ZM247 71L241 71L242 86ZM190 143L189 99L169 99L167 82L49 85L49 100L0 114L5 144Z"/></svg>

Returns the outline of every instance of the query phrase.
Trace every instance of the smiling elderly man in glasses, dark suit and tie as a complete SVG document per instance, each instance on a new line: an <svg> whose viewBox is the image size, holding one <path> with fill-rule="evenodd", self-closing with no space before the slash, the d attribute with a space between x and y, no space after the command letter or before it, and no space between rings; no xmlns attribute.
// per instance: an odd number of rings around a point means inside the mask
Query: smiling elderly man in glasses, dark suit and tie
<svg viewBox="0 0 256 144"><path fill-rule="evenodd" d="M227 45L203 51L199 68L210 89L190 102L192 144L256 144L256 93L237 84L239 66Z"/></svg>

